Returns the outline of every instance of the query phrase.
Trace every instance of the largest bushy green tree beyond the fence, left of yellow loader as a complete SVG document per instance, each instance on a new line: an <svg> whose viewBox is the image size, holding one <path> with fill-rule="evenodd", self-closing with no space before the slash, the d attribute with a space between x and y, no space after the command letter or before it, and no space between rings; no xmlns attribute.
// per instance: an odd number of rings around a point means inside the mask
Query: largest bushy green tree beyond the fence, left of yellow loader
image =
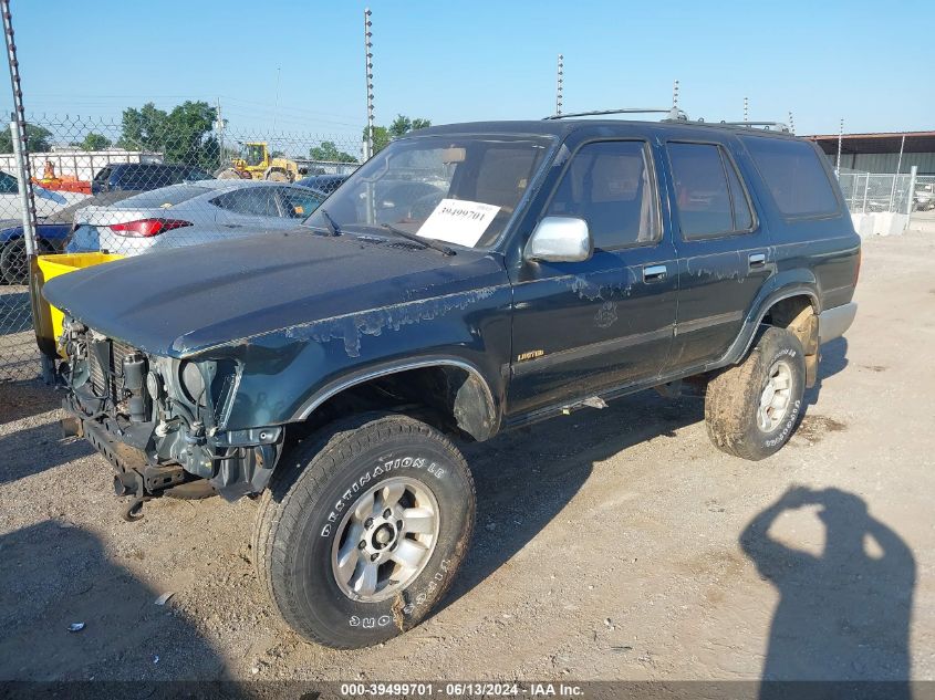
<svg viewBox="0 0 935 700"><path fill-rule="evenodd" d="M216 111L207 102L186 101L172 112L152 102L139 109L123 113L123 129L117 145L129 150L162 152L167 163L212 167L219 148L214 136Z"/></svg>

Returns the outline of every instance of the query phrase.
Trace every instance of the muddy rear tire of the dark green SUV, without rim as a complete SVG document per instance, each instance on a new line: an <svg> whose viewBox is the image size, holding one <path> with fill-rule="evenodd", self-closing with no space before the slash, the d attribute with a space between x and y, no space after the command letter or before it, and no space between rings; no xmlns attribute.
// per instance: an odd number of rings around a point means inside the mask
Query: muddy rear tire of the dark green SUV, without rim
<svg viewBox="0 0 935 700"><path fill-rule="evenodd" d="M769 431L757 420L760 397L777 361L791 369L791 396L779 425ZM705 424L715 447L749 460L779 450L798 425L806 386L806 362L799 339L785 328L769 327L747 358L724 369L709 382L705 395Z"/></svg>

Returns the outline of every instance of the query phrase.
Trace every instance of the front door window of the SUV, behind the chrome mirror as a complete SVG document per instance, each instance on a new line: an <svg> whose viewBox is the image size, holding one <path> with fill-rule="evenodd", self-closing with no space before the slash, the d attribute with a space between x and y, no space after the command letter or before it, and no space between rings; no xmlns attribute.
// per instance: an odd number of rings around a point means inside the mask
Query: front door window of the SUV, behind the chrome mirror
<svg viewBox="0 0 935 700"><path fill-rule="evenodd" d="M588 222L594 248L658 240L656 188L644 142L599 142L574 154L549 203L549 216Z"/></svg>

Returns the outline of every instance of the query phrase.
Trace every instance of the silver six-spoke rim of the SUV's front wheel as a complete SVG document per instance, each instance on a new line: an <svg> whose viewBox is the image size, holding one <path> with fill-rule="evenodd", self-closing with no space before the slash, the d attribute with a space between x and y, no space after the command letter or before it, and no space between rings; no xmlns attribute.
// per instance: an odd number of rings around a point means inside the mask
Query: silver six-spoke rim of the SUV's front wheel
<svg viewBox="0 0 935 700"><path fill-rule="evenodd" d="M394 477L365 491L344 514L331 571L352 600L378 603L408 586L438 540L438 501L415 479Z"/></svg>

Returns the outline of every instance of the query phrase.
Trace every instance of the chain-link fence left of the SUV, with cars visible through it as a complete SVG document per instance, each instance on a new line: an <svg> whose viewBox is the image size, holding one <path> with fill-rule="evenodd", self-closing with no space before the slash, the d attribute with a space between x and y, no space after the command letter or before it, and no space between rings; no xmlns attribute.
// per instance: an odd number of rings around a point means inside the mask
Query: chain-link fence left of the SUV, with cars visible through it
<svg viewBox="0 0 935 700"><path fill-rule="evenodd" d="M28 133L39 254L141 255L291 228L357 167L363 145L360 134L228 128L204 103L112 122L43 115ZM0 382L41 373L19 190L0 132Z"/></svg>

